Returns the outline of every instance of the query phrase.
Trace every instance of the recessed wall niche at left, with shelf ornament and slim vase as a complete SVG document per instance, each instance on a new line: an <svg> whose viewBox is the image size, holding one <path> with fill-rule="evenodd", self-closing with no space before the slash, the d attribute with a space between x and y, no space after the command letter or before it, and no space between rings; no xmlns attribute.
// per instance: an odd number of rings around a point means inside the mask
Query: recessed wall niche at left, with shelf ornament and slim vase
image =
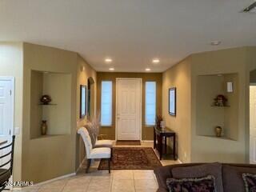
<svg viewBox="0 0 256 192"><path fill-rule="evenodd" d="M52 101L42 105L40 98L47 94ZM42 135L41 125L48 126ZM43 138L71 131L71 74L31 70L30 85L30 138Z"/></svg>

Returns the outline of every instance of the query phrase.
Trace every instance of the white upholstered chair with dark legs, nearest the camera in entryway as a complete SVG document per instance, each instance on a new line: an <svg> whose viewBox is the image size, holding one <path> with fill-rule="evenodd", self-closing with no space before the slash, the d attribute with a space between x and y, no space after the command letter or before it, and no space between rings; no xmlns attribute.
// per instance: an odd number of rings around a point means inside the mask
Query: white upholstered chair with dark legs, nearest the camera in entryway
<svg viewBox="0 0 256 192"><path fill-rule="evenodd" d="M109 173L110 173L110 161L111 161L111 150L109 147L97 147L93 148L90 140L90 134L85 127L81 127L78 130L78 134L82 136L82 140L86 147L86 158L87 158L87 168L86 173L90 169L91 159L95 158L107 158L109 164Z"/></svg>

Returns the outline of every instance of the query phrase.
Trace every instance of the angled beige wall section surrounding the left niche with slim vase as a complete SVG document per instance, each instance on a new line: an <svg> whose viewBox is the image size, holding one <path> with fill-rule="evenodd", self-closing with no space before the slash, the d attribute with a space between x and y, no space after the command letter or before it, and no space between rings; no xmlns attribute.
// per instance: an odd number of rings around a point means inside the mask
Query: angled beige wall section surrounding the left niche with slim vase
<svg viewBox="0 0 256 192"><path fill-rule="evenodd" d="M42 182L75 171L77 54L30 43L23 48L22 181ZM30 139L31 70L71 75L70 134Z"/></svg>

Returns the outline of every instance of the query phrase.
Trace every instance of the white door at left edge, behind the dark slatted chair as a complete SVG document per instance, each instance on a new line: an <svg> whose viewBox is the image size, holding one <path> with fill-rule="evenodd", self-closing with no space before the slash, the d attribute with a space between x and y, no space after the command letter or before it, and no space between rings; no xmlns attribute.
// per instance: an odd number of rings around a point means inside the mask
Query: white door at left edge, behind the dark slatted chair
<svg viewBox="0 0 256 192"><path fill-rule="evenodd" d="M10 78L0 78L0 142L11 142L11 134L13 128L13 95L14 82ZM4 145L3 145L4 146ZM0 146L1 147L1 146ZM0 151L0 156L10 152L10 147ZM0 164L8 162L10 155L0 159ZM10 164L6 165L9 168Z"/></svg>

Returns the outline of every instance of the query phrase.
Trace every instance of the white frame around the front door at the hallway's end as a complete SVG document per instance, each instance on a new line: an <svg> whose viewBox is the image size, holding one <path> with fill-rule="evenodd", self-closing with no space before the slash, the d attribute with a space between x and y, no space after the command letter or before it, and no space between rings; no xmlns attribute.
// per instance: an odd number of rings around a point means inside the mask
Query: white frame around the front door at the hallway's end
<svg viewBox="0 0 256 192"><path fill-rule="evenodd" d="M115 141L118 140L118 80L139 80L140 86L140 108L139 108L139 138L142 141L142 78L116 78L115 79Z"/></svg>

